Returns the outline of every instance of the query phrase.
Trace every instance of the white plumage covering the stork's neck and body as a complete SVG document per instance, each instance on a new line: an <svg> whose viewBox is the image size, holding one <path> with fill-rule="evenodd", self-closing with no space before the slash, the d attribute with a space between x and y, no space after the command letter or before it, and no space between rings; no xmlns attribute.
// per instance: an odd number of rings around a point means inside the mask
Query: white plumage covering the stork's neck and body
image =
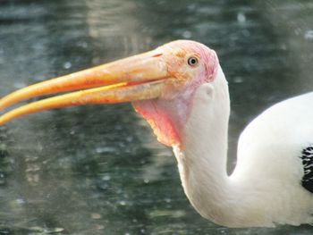
<svg viewBox="0 0 313 235"><path fill-rule="evenodd" d="M300 184L301 151L313 143L312 104L309 93L260 114L242 132L228 176L230 102L219 67L216 80L196 91L184 148L173 147L183 189L199 214L228 227L312 223L313 196Z"/></svg>

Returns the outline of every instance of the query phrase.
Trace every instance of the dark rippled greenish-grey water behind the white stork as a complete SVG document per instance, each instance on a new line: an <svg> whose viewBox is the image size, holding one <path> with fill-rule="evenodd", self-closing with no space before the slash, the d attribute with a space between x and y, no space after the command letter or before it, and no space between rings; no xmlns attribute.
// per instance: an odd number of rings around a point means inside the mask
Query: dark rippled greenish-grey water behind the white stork
<svg viewBox="0 0 313 235"><path fill-rule="evenodd" d="M216 49L242 128L312 90L309 1L0 1L0 95L176 38ZM227 229L182 192L171 149L131 105L31 115L0 128L0 234L311 234L310 226Z"/></svg>

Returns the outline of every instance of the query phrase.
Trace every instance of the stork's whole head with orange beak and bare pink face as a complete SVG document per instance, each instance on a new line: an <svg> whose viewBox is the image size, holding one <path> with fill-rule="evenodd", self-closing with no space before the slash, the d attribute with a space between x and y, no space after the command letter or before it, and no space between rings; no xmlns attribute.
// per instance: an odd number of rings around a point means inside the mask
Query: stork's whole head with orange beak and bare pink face
<svg viewBox="0 0 313 235"><path fill-rule="evenodd" d="M29 113L74 105L132 102L160 142L181 145L180 130L201 84L215 80L216 53L198 42L178 40L85 71L21 88L0 100L0 111L21 100L55 93L0 116L0 125ZM76 90L76 91L75 91Z"/></svg>

